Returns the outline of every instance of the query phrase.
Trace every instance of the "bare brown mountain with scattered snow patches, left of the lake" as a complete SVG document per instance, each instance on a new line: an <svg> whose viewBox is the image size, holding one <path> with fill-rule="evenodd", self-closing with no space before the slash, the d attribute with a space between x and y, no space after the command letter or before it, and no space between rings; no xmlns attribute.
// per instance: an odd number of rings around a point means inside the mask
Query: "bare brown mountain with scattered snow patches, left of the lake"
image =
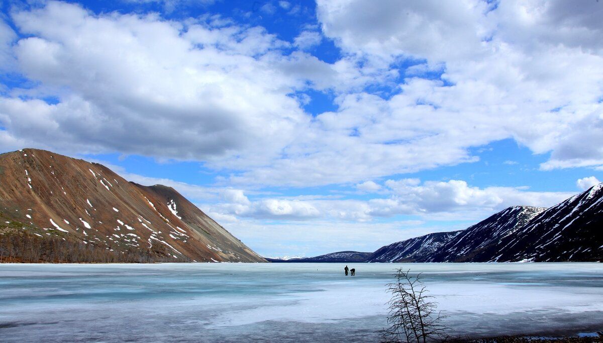
<svg viewBox="0 0 603 343"><path fill-rule="evenodd" d="M0 155L0 220L5 260L265 262L174 188L45 150Z"/></svg>

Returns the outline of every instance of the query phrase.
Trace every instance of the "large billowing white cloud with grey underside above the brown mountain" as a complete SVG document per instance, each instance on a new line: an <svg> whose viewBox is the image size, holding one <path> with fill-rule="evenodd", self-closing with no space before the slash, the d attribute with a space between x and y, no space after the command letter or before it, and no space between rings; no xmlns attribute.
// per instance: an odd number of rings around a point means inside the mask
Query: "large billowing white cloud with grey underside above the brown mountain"
<svg viewBox="0 0 603 343"><path fill-rule="evenodd" d="M262 28L184 28L152 15L95 16L61 2L14 20L33 35L16 46L20 68L44 85L40 91L60 97L55 105L0 99L7 134L28 145L265 163L308 121L287 95L294 82L257 59L287 44Z"/></svg>

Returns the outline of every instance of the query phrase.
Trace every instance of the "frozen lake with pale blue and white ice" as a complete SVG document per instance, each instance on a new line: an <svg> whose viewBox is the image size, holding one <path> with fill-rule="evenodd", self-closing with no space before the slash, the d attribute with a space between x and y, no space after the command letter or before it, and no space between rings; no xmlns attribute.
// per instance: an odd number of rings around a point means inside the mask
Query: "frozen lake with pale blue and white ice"
<svg viewBox="0 0 603 343"><path fill-rule="evenodd" d="M397 266L457 336L603 330L601 263L0 264L0 341L377 341Z"/></svg>

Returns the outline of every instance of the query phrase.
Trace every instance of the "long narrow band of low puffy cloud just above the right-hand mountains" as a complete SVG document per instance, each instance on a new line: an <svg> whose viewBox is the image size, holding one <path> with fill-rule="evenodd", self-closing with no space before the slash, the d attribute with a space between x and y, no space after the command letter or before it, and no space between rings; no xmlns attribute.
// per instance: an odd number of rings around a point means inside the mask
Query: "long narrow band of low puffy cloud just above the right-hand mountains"
<svg viewBox="0 0 603 343"><path fill-rule="evenodd" d="M472 187L466 181L425 181L398 179L385 181L384 190L372 181L356 185L367 193L388 193L368 200L326 199L324 197L265 197L250 201L242 190L227 190L229 202L207 204L212 213L233 214L258 219L329 219L365 222L394 216L429 219L481 220L514 205L551 207L572 196L569 192L529 191L525 187ZM236 195L233 195L236 194Z"/></svg>

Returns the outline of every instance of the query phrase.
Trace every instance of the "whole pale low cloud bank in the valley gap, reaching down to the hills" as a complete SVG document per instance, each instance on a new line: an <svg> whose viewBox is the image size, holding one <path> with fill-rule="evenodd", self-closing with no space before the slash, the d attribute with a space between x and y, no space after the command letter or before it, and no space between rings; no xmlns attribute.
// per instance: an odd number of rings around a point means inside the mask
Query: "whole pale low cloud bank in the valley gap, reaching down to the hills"
<svg viewBox="0 0 603 343"><path fill-rule="evenodd" d="M479 188L464 181L421 183L418 179L400 179L385 184L392 193L389 197L367 201L319 199L288 203L306 203L299 207L318 211L312 211L308 217L291 216L295 210L282 206L287 202L273 199L270 200L272 204L283 208L269 216L267 213L247 213L239 216L237 222L228 223L227 228L264 254L315 256L347 249L374 251L383 245L431 232L467 228L511 205L549 207L573 195L532 192L523 187ZM229 216L223 212L224 205L201 205L201 208L205 207L208 213ZM250 206L253 207L257 208L257 205ZM288 211L287 217L280 216L283 210ZM399 214L411 214L417 219L379 220ZM295 220L283 222L282 219Z"/></svg>

